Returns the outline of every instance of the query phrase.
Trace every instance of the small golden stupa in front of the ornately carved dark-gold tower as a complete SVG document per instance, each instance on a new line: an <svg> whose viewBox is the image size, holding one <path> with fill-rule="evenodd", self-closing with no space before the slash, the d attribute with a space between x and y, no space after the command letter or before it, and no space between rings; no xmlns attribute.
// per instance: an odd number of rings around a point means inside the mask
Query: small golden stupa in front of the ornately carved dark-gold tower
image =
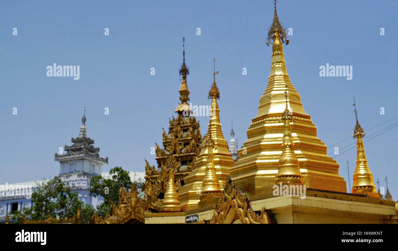
<svg viewBox="0 0 398 251"><path fill-rule="evenodd" d="M164 193L163 205L161 212L179 212L181 208L179 207L179 198L176 190L176 185L174 184L174 166L172 157L170 157L170 163L168 166L168 182L166 192Z"/></svg>

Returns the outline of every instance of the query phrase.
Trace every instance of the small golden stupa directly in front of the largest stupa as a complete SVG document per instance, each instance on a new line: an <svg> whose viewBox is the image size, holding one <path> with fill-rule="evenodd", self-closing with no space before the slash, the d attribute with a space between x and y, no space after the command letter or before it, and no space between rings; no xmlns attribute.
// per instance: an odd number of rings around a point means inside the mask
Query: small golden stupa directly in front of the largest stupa
<svg viewBox="0 0 398 251"><path fill-rule="evenodd" d="M275 184L287 184L287 185L303 185L304 180L300 173L300 164L296 157L293 139L292 129L290 122L293 122L293 117L287 106L287 87L285 90L286 107L282 113L283 121L283 143L282 143L282 154L279 157L278 162L278 174L275 176Z"/></svg>

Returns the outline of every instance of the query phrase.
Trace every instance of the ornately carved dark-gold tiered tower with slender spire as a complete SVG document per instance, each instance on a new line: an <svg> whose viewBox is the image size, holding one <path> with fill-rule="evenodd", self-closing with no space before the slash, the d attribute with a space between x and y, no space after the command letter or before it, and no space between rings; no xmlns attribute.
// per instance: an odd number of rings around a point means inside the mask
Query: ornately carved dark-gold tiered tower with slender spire
<svg viewBox="0 0 398 251"><path fill-rule="evenodd" d="M185 39L183 39L183 47L185 47L184 42ZM147 207L152 212L159 211L162 207L162 199L169 180L167 166L170 156L173 157L174 180L178 191L183 185L183 178L193 170L193 163L199 154L199 145L202 142L199 123L195 116L190 116L191 111L187 103L189 101L187 85L189 68L185 64L185 48L183 49L183 62L179 74L182 77L179 87L181 103L174 110L174 112L177 112L177 117L170 120L168 133L163 129L163 148L156 144L158 168L150 166L148 162L145 165L144 191L147 198Z"/></svg>

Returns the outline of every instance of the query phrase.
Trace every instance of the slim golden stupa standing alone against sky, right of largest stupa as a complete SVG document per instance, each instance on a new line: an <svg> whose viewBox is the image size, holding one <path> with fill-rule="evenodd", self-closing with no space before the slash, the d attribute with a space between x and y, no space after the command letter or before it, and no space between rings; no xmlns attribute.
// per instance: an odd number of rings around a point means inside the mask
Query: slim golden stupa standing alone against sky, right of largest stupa
<svg viewBox="0 0 398 251"><path fill-rule="evenodd" d="M351 193L368 195L369 197L378 198L380 195L376 193L376 186L373 183L373 174L368 166L368 161L365 155L365 147L363 146L363 137L365 132L358 122L357 106L354 98L354 112L357 124L355 125L354 139L357 138L357 166L355 167L353 179L354 183L351 188Z"/></svg>

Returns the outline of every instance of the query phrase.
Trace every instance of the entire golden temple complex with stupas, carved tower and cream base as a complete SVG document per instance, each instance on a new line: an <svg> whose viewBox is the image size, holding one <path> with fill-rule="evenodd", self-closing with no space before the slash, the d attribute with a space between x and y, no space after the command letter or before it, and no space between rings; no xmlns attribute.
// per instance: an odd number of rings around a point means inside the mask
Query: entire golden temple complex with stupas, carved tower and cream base
<svg viewBox="0 0 398 251"><path fill-rule="evenodd" d="M288 43L275 3L267 38L267 45L272 44L271 73L236 162L221 130L216 71L208 94L209 129L202 140L187 103L184 49L181 103L168 133L163 131L163 147L156 145L157 168L146 162L144 194L122 188L111 215L95 217L93 223L397 222L394 201L376 192L356 108L357 166L347 193L339 164L326 154L287 74L283 44Z"/></svg>

